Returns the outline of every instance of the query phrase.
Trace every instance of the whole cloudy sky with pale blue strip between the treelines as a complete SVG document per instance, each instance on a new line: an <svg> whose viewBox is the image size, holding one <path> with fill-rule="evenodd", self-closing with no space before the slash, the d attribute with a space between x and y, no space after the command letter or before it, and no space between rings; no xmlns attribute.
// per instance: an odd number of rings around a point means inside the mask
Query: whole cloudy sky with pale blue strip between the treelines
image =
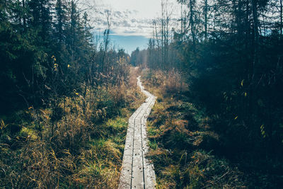
<svg viewBox="0 0 283 189"><path fill-rule="evenodd" d="M94 28L103 33L107 28L106 10L110 10L112 45L129 54L145 49L152 35L152 21L161 17L161 0L89 0L96 11ZM178 8L176 0L167 0L170 8ZM173 16L174 17L174 16Z"/></svg>

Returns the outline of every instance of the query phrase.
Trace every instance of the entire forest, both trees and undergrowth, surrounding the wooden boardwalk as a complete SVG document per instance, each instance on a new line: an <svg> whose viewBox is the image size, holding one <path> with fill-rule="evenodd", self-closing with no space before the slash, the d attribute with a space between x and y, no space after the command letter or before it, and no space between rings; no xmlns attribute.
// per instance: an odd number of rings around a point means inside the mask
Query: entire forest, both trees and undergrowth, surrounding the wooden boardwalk
<svg viewBox="0 0 283 189"><path fill-rule="evenodd" d="M0 188L118 188L137 76L156 188L282 188L282 0L176 1L128 55L110 11L0 0Z"/></svg>

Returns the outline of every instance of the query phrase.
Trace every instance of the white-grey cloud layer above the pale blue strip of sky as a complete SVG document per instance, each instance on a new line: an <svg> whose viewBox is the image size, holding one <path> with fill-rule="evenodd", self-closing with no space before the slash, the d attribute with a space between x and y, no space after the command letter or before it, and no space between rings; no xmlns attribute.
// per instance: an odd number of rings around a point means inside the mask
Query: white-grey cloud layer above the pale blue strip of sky
<svg viewBox="0 0 283 189"><path fill-rule="evenodd" d="M97 17L96 23L93 25L96 30L99 28L100 31L103 31L108 28L105 10L110 10L111 30L115 32L115 35L142 35L146 38L151 38L152 20L161 14L161 4L159 1L96 1L98 3L96 5L97 11L93 13L93 15ZM171 7L173 7L173 5ZM171 21L172 23L177 23L177 19L174 17L175 16L173 16Z"/></svg>

